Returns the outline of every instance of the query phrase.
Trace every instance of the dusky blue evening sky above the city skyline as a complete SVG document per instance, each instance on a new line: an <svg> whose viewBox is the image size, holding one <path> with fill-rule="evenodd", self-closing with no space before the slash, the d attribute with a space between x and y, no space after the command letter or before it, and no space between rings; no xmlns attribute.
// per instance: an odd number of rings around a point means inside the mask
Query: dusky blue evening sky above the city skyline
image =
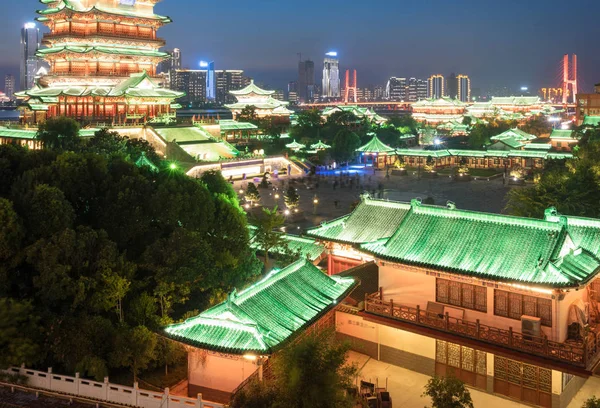
<svg viewBox="0 0 600 408"><path fill-rule="evenodd" d="M1 1L3 76L18 72L19 30L42 5ZM173 18L159 35L185 67L214 60L272 87L296 79L300 52L320 81L329 50L342 70L357 69L359 86L451 72L482 90L557 86L565 53L578 54L582 90L600 82L598 0L164 0L156 12Z"/></svg>

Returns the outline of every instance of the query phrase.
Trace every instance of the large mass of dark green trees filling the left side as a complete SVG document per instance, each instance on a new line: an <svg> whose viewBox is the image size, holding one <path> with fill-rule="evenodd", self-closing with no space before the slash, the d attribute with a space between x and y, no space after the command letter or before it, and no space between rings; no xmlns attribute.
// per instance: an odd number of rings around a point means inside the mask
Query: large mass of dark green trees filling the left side
<svg viewBox="0 0 600 408"><path fill-rule="evenodd" d="M72 128L58 122L40 133ZM154 332L260 273L237 195L219 173L169 170L143 141L63 139L0 146L0 367L166 368L182 353ZM134 164L142 152L159 172Z"/></svg>

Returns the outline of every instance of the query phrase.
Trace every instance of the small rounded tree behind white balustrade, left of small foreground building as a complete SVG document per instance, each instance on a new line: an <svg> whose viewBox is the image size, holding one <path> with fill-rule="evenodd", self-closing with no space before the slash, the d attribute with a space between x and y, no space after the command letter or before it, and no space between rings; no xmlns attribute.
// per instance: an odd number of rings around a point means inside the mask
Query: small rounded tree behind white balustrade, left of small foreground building
<svg viewBox="0 0 600 408"><path fill-rule="evenodd" d="M156 358L156 335L144 326L124 328L116 338L112 353L115 366L126 367L137 382L138 374Z"/></svg>

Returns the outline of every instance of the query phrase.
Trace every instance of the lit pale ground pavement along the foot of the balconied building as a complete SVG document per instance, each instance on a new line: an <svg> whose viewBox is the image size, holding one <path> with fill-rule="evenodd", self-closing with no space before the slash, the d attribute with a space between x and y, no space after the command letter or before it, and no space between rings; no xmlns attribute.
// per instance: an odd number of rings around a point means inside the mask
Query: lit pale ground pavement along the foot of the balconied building
<svg viewBox="0 0 600 408"><path fill-rule="evenodd" d="M421 397L425 384L430 377L414 371L407 370L392 364L374 360L364 354L350 351L350 362L358 364L359 377L365 381L385 387L387 378L388 391L392 396L395 407L423 407L431 406L428 398ZM488 394L476 388L469 387L475 408L517 408L528 405L506 399L504 397ZM600 395L600 378L590 377L579 393L571 401L568 408L581 408L583 402L590 396Z"/></svg>

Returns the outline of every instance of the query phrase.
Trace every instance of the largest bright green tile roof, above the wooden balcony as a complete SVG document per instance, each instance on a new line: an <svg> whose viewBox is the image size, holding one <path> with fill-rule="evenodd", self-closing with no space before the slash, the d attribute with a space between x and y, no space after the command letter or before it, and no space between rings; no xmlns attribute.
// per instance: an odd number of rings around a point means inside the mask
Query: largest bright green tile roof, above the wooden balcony
<svg viewBox="0 0 600 408"><path fill-rule="evenodd" d="M361 248L382 259L459 274L572 287L594 276L600 261L579 250L570 232L558 219L425 206L413 200L391 238Z"/></svg>

